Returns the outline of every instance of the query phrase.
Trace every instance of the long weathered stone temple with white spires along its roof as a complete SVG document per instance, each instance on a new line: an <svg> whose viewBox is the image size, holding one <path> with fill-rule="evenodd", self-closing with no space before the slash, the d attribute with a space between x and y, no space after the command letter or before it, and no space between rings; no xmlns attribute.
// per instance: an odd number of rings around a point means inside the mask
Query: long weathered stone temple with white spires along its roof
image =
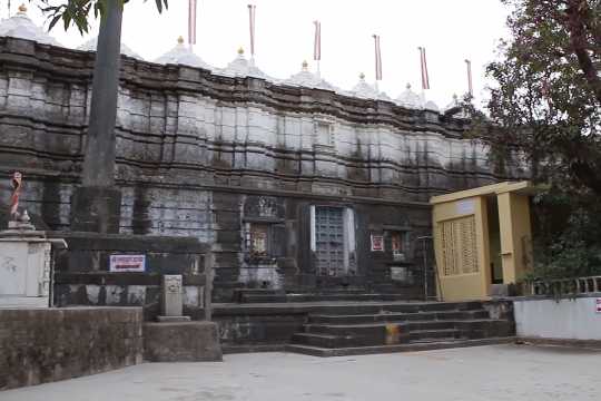
<svg viewBox="0 0 601 401"><path fill-rule="evenodd" d="M278 80L243 50L216 68L181 41L156 61L121 49L119 234L209 246L215 302L341 291L423 300L430 197L520 174L496 175L455 105L441 110L408 86L391 99L363 76L336 88L306 63ZM24 11L0 23L1 208L22 172L33 222L67 238L93 60L93 40L62 47ZM55 303L152 303L144 283L87 274L102 270L71 264Z"/></svg>

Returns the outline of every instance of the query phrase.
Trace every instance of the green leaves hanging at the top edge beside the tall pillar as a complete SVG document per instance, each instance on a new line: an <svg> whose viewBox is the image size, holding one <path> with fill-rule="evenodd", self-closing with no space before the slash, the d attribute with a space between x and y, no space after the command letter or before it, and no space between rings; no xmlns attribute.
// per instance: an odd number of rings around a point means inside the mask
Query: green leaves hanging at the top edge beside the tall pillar
<svg viewBox="0 0 601 401"><path fill-rule="evenodd" d="M40 4L41 10L48 16L50 21L49 29L62 21L65 30L75 26L80 33L88 32L89 19L91 13L93 18L102 17L106 13L107 8L112 0L63 0L58 6L51 0L29 0L30 2L37 2ZM116 0L124 7L129 0ZM147 2L148 0L144 0ZM154 0L158 12L168 8L168 0Z"/></svg>

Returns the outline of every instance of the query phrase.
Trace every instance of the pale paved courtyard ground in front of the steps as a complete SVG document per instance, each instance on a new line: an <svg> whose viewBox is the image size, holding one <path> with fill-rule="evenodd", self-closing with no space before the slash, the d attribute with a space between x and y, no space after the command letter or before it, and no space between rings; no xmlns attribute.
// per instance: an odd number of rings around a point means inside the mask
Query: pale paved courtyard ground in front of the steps
<svg viewBox="0 0 601 401"><path fill-rule="evenodd" d="M0 392L1 401L599 399L601 352L513 344L331 359L237 354Z"/></svg>

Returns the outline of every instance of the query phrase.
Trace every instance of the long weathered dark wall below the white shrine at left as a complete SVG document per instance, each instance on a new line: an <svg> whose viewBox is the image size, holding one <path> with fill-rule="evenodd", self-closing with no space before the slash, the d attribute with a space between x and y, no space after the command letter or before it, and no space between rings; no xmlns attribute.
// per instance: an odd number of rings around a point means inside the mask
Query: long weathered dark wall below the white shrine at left
<svg viewBox="0 0 601 401"><path fill-rule="evenodd" d="M141 361L141 309L0 310L0 390Z"/></svg>

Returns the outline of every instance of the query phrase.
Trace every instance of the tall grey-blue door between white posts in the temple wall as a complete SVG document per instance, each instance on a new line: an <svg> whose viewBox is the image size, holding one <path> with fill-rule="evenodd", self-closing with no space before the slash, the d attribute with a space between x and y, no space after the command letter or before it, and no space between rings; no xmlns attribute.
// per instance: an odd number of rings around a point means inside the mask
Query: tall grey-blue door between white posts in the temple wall
<svg viewBox="0 0 601 401"><path fill-rule="evenodd" d="M315 208L315 255L317 275L334 277L346 275L342 207Z"/></svg>

